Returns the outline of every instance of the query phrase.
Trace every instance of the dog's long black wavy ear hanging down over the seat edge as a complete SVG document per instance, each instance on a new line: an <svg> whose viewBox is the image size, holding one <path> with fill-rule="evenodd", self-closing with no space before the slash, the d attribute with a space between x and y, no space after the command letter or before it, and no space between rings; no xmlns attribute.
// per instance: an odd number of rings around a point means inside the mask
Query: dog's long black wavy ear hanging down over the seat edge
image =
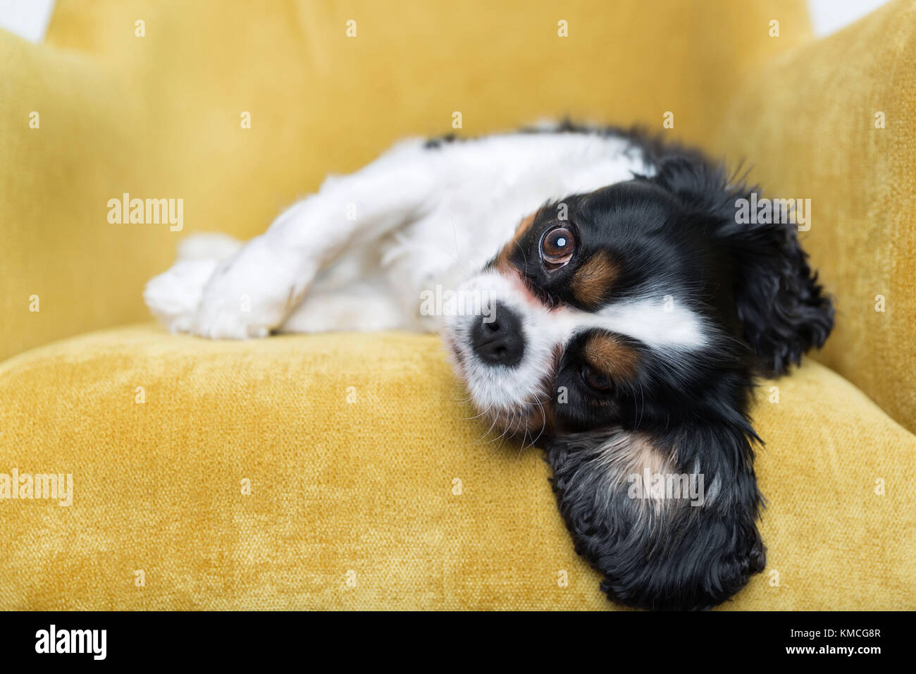
<svg viewBox="0 0 916 674"><path fill-rule="evenodd" d="M564 436L547 459L576 552L605 575L601 588L617 602L707 609L766 564L762 497L740 428Z"/></svg>

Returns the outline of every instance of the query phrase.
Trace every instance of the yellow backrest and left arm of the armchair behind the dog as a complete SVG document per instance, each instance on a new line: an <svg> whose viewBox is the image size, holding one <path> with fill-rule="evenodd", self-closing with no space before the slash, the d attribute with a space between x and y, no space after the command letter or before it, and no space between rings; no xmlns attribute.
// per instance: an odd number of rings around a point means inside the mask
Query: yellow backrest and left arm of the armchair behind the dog
<svg viewBox="0 0 916 674"><path fill-rule="evenodd" d="M809 35L802 0L768 5L59 0L48 44L0 31L0 359L146 320L180 238L255 236L456 111L464 135L563 115L661 130L672 111L702 140L739 69ZM183 229L110 224L124 193L183 199Z"/></svg>

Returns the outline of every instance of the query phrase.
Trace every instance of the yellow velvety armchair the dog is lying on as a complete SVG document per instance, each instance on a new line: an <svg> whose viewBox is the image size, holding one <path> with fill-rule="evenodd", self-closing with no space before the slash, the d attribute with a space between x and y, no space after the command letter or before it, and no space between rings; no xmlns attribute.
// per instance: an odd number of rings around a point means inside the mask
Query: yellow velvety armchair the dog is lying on
<svg viewBox="0 0 916 674"><path fill-rule="evenodd" d="M761 384L768 567L724 608L916 608L914 15L814 40L791 0L59 0L44 44L0 32L0 474L73 485L0 499L0 608L613 608L436 337L148 323L180 238L253 236L454 112L639 122L812 199L837 327ZM109 222L124 193L181 230Z"/></svg>

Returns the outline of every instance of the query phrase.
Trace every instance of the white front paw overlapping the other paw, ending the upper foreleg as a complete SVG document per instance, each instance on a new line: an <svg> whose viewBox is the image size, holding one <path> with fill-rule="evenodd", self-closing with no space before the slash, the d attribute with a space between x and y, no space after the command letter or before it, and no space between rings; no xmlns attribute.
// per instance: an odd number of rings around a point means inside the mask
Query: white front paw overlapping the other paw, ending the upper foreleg
<svg viewBox="0 0 916 674"><path fill-rule="evenodd" d="M258 239L213 271L191 321L191 333L212 339L267 337L299 303L311 274L289 252Z"/></svg>

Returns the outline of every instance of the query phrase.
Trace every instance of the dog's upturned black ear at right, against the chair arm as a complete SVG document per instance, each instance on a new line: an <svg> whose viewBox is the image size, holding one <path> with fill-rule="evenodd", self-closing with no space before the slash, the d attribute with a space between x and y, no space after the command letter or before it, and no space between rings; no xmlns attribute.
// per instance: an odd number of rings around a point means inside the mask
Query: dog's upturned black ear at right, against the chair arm
<svg viewBox="0 0 916 674"><path fill-rule="evenodd" d="M793 202L764 201L756 187L699 156L663 160L652 180L713 223L731 261L737 317L763 374L780 375L823 346L834 306L799 244ZM810 223L811 214L804 215Z"/></svg>

